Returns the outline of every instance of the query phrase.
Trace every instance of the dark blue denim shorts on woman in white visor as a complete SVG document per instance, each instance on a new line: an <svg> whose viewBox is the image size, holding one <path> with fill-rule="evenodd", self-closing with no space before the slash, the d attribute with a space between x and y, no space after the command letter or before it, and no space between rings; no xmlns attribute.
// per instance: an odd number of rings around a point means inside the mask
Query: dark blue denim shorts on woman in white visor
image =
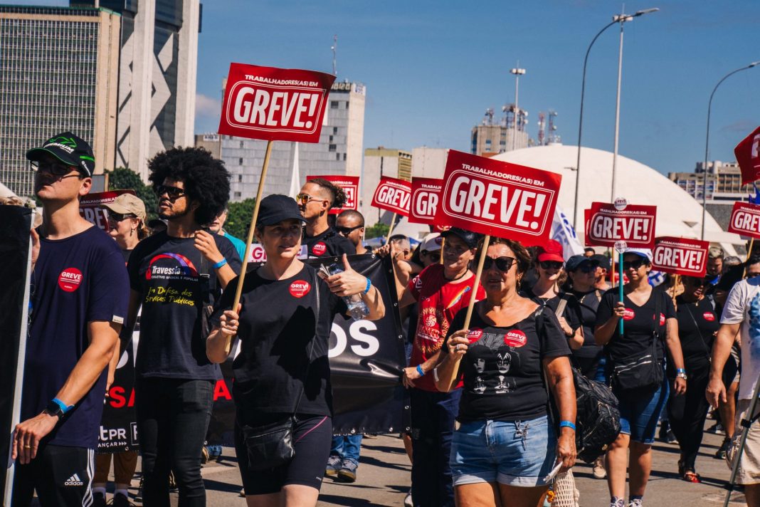
<svg viewBox="0 0 760 507"><path fill-rule="evenodd" d="M630 435L633 442L654 443L654 432L668 396L668 379L654 391L614 389L620 402L620 433Z"/></svg>

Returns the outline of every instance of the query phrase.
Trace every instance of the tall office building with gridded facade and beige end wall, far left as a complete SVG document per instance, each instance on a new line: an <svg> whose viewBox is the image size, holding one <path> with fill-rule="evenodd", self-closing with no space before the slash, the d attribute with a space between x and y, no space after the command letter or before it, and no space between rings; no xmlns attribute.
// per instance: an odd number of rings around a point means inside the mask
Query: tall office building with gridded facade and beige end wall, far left
<svg viewBox="0 0 760 507"><path fill-rule="evenodd" d="M96 173L113 167L121 16L103 8L0 5L0 182L31 195L25 153L70 131Z"/></svg>

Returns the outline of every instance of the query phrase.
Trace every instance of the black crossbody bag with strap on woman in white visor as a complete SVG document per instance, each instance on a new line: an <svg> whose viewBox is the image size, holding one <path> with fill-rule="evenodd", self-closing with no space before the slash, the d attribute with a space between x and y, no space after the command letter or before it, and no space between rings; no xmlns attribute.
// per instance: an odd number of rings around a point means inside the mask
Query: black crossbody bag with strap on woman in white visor
<svg viewBox="0 0 760 507"><path fill-rule="evenodd" d="M652 341L646 350L615 361L613 386L618 389L640 389L654 391L663 382L663 366L657 360L657 340L660 339L660 313L663 293L652 292L654 318L652 319Z"/></svg>

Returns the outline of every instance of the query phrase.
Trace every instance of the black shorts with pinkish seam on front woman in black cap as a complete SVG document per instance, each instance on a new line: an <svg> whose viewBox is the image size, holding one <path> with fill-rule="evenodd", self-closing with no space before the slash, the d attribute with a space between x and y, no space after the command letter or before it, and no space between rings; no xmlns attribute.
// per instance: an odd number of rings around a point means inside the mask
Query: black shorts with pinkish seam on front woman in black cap
<svg viewBox="0 0 760 507"><path fill-rule="evenodd" d="M283 420L287 414L274 416ZM263 424L263 423L262 423ZM248 467L248 450L240 427L235 424L235 453L240 467L240 477L246 495L277 493L287 484L311 486L316 490L322 485L322 476L330 455L332 442L332 419L329 416L299 416L293 431L295 455L288 464L268 470L251 471Z"/></svg>

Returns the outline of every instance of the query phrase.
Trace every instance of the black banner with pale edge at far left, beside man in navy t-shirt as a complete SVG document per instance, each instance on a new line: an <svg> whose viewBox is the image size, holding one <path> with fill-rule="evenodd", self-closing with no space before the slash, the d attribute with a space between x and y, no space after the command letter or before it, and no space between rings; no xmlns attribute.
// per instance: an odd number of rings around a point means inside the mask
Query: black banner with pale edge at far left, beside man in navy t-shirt
<svg viewBox="0 0 760 507"><path fill-rule="evenodd" d="M27 319L29 317L29 231L33 211L0 205L0 456L11 463L11 433L21 417ZM3 505L10 505L14 467L0 474Z"/></svg>

